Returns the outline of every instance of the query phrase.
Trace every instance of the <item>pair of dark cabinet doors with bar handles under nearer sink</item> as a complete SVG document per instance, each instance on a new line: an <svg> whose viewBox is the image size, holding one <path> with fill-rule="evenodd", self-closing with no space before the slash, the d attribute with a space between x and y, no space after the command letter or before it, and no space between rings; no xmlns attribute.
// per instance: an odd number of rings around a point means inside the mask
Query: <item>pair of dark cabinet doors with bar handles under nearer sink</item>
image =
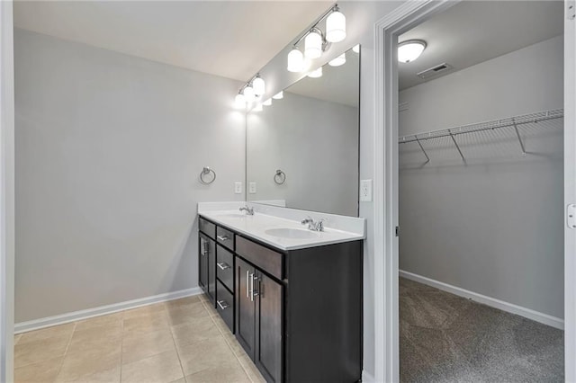
<svg viewBox="0 0 576 383"><path fill-rule="evenodd" d="M237 257L236 338L269 382L282 381L283 286Z"/></svg>

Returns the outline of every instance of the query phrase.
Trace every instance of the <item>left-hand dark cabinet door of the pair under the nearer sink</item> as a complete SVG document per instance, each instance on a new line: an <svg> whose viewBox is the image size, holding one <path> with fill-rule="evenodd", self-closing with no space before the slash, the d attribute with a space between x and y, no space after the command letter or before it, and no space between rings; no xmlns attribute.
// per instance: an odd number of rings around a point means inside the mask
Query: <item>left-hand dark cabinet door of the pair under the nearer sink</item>
<svg viewBox="0 0 576 383"><path fill-rule="evenodd" d="M251 359L256 343L256 302L253 295L254 268L236 257L236 338Z"/></svg>

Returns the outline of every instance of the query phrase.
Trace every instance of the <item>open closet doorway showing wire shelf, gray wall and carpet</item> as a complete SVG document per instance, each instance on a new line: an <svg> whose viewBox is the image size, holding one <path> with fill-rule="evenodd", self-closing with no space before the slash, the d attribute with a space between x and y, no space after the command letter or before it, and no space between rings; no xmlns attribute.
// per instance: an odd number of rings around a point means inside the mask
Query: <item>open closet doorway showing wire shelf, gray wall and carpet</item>
<svg viewBox="0 0 576 383"><path fill-rule="evenodd" d="M397 34L425 48L397 64L401 381L564 380L563 20L462 2Z"/></svg>

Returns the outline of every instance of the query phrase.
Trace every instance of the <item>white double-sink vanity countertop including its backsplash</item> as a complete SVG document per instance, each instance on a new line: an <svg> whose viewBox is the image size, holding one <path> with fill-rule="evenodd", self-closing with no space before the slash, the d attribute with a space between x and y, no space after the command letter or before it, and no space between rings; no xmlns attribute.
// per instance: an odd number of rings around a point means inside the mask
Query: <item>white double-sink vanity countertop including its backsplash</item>
<svg viewBox="0 0 576 383"><path fill-rule="evenodd" d="M254 215L238 209L248 204ZM365 219L315 211L279 208L251 202L201 202L198 214L239 234L252 237L280 250L332 245L365 238ZM324 231L302 225L306 217L324 219Z"/></svg>

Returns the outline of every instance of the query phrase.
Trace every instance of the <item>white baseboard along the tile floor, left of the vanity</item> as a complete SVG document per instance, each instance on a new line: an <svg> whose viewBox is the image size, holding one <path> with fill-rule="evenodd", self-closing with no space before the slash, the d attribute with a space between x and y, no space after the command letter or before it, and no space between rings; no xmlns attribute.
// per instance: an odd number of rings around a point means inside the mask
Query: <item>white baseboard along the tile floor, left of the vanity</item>
<svg viewBox="0 0 576 383"><path fill-rule="evenodd" d="M181 289L179 291L168 292L165 294L158 294L152 297L127 300L125 302L114 303L112 305L88 308L85 310L74 311L67 314L61 314L58 316L48 316L45 318L34 319L27 322L20 322L14 325L14 334L20 334L31 330L38 330L40 328L49 327L52 325L63 325L65 323L76 322L78 320L83 320L94 316L104 316L106 314L112 314L118 311L127 310L129 308L148 306L158 302L166 302L168 300L190 297L199 294L202 294L202 289L200 289L199 287L195 287L192 289Z"/></svg>

